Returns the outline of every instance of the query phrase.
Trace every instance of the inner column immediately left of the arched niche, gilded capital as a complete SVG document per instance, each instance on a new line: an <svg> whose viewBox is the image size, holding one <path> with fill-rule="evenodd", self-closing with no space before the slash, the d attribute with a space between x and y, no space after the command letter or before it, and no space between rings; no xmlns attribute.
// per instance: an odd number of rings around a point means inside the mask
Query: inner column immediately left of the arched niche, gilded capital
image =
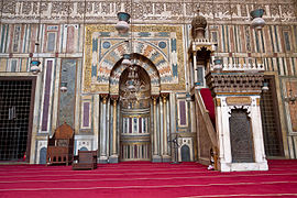
<svg viewBox="0 0 297 198"><path fill-rule="evenodd" d="M118 163L118 152L117 152L117 105L118 105L118 96L112 96L113 100L113 119L112 119L112 155L110 157L110 163Z"/></svg>

